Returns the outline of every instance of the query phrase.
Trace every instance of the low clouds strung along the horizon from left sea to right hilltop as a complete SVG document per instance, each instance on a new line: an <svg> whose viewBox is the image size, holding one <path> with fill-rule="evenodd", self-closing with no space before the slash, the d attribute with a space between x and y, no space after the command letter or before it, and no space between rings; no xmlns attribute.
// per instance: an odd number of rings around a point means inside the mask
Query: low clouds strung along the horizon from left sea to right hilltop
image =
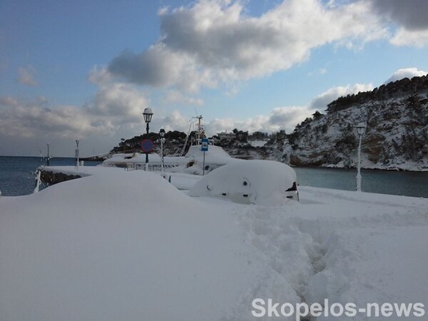
<svg viewBox="0 0 428 321"><path fill-rule="evenodd" d="M427 74L427 71L403 68L396 71L389 80L424 74ZM206 129L208 135L232 131L233 128L250 133L282 129L291 133L297 123L311 117L315 111L324 112L327 104L336 98L359 91L370 91L373 87L371 83L357 83L329 88L305 106L273 108L253 118L217 118L206 123ZM170 99L170 102L185 102L193 98L170 91L165 99ZM193 102L198 104L197 100ZM74 139L81 138L82 141L96 141L92 146L98 146L98 148L101 146L103 152L106 152L112 147L111 142L115 139L119 141L121 137L133 137L143 133L144 123L141 113L144 108L150 106L151 103L141 88L129 83L108 81L101 81L92 101L84 106L50 106L49 99L44 96L39 96L30 102L19 101L12 96L3 96L0 97L0 138L1 141L9 143L11 151L18 143L34 144L34 140L73 142ZM180 111L166 112L160 108L156 111L156 117L151 123L151 131L158 131L159 128L187 133L189 118L183 116Z"/></svg>

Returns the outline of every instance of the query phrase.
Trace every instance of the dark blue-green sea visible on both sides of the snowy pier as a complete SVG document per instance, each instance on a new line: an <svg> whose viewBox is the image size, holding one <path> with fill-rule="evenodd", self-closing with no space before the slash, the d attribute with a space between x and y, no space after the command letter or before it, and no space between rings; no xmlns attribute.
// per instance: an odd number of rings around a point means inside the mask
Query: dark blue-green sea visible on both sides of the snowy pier
<svg viewBox="0 0 428 321"><path fill-rule="evenodd" d="M85 161L85 166L101 162ZM74 165L74 158L51 158L49 165ZM4 196L33 193L35 172L46 158L0 156L0 191ZM294 168L299 185L355 190L357 171L341 168ZM428 198L428 172L362 170L362 191ZM46 186L44 186L46 188Z"/></svg>

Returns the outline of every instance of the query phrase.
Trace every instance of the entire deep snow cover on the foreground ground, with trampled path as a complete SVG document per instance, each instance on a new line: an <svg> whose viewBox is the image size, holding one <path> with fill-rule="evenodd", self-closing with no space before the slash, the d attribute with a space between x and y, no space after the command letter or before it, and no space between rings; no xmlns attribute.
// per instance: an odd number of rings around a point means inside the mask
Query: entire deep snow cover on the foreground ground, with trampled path
<svg viewBox="0 0 428 321"><path fill-rule="evenodd" d="M427 309L425 198L300 187L300 203L242 205L188 196L186 175L79 170L0 198L0 320L279 320L255 299Z"/></svg>

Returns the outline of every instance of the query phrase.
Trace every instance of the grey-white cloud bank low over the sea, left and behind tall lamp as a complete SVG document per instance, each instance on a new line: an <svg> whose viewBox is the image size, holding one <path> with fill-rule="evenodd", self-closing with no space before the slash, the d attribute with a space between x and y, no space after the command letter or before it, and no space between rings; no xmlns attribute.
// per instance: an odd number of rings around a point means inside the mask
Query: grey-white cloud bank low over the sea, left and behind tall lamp
<svg viewBox="0 0 428 321"><path fill-rule="evenodd" d="M11 96L0 97L1 155L38 155L38 146L52 143L56 156L71 156L73 141L81 139L82 155L106 153L120 141L146 131L142 111L148 99L134 86L111 83L101 86L85 106L50 106L44 96L23 102ZM189 118L178 111L155 111L150 130L184 131ZM85 147L86 146L86 147Z"/></svg>

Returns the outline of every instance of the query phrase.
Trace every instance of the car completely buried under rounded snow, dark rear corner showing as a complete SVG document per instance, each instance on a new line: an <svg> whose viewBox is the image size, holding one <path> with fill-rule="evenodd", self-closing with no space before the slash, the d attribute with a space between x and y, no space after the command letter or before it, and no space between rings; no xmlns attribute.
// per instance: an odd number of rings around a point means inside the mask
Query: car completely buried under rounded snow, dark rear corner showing
<svg viewBox="0 0 428 321"><path fill-rule="evenodd" d="M259 205L299 200L295 170L284 163L260 160L223 165L199 180L189 194Z"/></svg>

